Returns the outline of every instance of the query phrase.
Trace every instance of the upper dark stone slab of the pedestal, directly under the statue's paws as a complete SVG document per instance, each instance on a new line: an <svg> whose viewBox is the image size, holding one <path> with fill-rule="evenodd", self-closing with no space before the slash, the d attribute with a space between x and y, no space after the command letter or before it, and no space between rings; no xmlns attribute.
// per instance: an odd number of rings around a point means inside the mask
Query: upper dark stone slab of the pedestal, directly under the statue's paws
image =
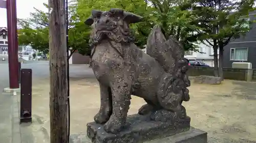
<svg viewBox="0 0 256 143"><path fill-rule="evenodd" d="M117 134L107 133L102 125L92 122L87 124L87 135L95 143L139 143L184 132L189 130L189 127L189 117L170 123L151 121L146 116L132 115L127 117L123 130Z"/></svg>

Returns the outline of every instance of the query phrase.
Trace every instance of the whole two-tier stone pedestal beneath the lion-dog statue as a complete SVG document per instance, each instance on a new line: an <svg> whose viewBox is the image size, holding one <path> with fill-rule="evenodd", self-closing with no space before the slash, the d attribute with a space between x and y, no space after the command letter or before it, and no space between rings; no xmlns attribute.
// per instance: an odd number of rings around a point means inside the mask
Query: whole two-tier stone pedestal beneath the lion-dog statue
<svg viewBox="0 0 256 143"><path fill-rule="evenodd" d="M145 116L127 118L118 134L106 133L103 125L87 124L87 134L74 134L71 143L207 143L207 133L190 127L190 118L175 123L150 121Z"/></svg>

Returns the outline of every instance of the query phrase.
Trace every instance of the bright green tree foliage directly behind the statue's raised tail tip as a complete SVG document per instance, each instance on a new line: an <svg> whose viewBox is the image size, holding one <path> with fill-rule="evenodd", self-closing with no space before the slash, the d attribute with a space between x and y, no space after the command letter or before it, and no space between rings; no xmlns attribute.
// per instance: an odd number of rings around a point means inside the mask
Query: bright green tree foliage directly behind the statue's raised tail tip
<svg viewBox="0 0 256 143"><path fill-rule="evenodd" d="M200 40L199 27L195 24L197 18L191 11L191 3L182 0L151 0L153 21L162 26L165 38L176 37L185 50L197 51Z"/></svg>

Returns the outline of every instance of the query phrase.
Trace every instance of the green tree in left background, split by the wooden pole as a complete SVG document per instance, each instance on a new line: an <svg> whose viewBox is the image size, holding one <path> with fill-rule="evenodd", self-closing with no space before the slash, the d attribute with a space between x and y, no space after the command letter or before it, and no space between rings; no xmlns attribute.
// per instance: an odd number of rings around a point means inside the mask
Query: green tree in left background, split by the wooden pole
<svg viewBox="0 0 256 143"><path fill-rule="evenodd" d="M47 4L44 4L48 8ZM90 54L88 45L90 36L90 27L84 25L76 15L76 7L73 4L69 6L69 47L71 55L78 51L83 55ZM29 19L18 19L21 29L18 31L18 42L21 45L31 45L44 53L49 52L49 17L48 13L38 10L30 13Z"/></svg>

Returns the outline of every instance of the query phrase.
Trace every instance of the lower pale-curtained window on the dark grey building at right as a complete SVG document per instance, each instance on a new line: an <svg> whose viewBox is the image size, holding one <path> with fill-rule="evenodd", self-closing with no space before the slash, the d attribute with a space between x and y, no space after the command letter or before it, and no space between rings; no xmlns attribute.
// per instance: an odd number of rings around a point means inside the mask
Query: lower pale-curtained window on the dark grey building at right
<svg viewBox="0 0 256 143"><path fill-rule="evenodd" d="M233 61L247 61L248 48L231 48L230 60Z"/></svg>

